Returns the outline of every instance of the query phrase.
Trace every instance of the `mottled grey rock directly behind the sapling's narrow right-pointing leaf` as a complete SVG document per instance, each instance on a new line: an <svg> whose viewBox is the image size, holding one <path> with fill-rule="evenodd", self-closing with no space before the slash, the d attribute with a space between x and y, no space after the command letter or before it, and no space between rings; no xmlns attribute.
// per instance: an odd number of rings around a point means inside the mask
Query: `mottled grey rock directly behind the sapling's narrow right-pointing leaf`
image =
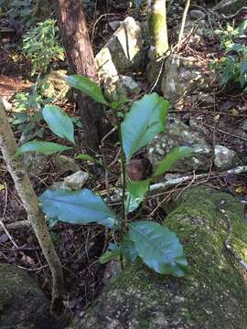
<svg viewBox="0 0 247 329"><path fill-rule="evenodd" d="M206 142L202 133L192 130L177 118L168 117L166 131L158 133L147 147L148 159L154 168L176 146L190 146L194 155L178 161L171 172L184 173L191 170L207 170L213 155L212 146Z"/></svg>

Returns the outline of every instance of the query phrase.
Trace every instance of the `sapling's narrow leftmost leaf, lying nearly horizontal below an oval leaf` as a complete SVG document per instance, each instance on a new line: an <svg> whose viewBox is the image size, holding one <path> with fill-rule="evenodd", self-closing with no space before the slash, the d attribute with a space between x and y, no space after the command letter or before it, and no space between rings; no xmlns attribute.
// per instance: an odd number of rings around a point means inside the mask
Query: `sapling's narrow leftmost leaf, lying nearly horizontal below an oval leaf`
<svg viewBox="0 0 247 329"><path fill-rule="evenodd" d="M60 145L58 143L42 142L42 141L34 140L31 142L24 143L21 147L19 147L15 156L19 156L27 152L37 152L40 154L49 155L70 149L71 147Z"/></svg>

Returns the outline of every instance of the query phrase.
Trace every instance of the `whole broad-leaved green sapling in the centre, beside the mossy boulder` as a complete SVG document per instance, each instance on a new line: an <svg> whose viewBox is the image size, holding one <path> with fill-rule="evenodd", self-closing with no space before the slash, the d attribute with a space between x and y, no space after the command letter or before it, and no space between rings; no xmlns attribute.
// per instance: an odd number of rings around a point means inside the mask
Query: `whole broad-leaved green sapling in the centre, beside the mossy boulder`
<svg viewBox="0 0 247 329"><path fill-rule="evenodd" d="M113 111L121 145L122 209L118 213L114 212L99 194L83 188L76 191L45 191L39 197L43 212L52 225L57 221L81 225L98 223L112 229L113 243L109 244L108 250L102 255L102 263L120 260L123 265L140 258L149 268L160 274L184 276L188 263L177 235L151 220L140 218L132 221L132 218L133 211L145 201L145 195L156 176L163 175L177 160L191 155L193 150L187 146L175 148L166 155L155 173L144 181L131 181L126 171L126 165L133 155L145 147L157 133L165 130L169 102L156 93L146 94L139 101L134 101L125 115L123 107L126 100L109 103L104 99L100 87L86 77L64 76L63 79L70 87L81 90ZM118 115L120 111L121 116ZM124 117L123 121L120 117ZM48 155L73 148L80 149L75 144L73 122L59 106L45 106L43 118L48 128L67 140L69 145L34 140L20 146L16 156L27 152ZM96 161L89 154L75 154L75 157L81 161Z"/></svg>

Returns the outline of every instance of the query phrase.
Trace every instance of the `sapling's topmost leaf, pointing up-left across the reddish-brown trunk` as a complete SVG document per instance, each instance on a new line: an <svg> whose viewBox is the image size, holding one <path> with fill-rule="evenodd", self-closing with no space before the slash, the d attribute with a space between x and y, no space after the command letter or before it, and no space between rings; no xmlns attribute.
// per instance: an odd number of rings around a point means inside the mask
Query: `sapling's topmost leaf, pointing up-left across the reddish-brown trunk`
<svg viewBox="0 0 247 329"><path fill-rule="evenodd" d="M100 102L107 106L109 105L108 101L103 97L101 88L89 78L81 75L71 75L65 76L63 79L70 87L81 90L83 93L90 96L93 101Z"/></svg>

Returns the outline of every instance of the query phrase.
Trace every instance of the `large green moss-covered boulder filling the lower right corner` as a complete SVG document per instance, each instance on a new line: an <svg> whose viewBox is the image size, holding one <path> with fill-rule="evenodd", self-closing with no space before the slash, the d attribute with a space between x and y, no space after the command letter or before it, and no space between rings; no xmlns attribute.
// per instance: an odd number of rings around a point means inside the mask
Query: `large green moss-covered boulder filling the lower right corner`
<svg viewBox="0 0 247 329"><path fill-rule="evenodd" d="M179 198L166 226L184 245L189 273L184 279L157 275L140 263L125 269L72 329L246 329L247 291L242 268L225 250L226 219L231 246L246 261L247 224L236 199L206 186Z"/></svg>

